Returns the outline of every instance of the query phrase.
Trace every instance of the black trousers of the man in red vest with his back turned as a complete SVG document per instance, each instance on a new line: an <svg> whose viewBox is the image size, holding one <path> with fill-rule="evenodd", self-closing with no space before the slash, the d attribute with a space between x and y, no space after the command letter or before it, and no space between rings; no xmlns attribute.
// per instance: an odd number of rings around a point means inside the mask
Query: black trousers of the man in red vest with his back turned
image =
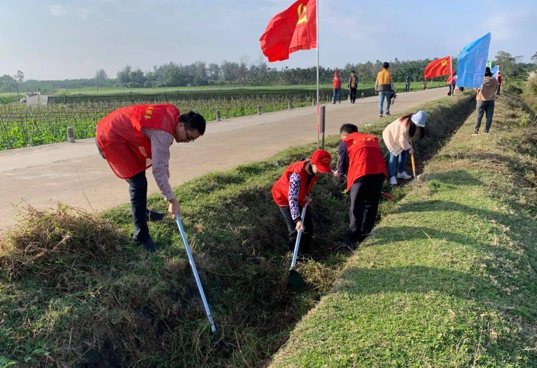
<svg viewBox="0 0 537 368"><path fill-rule="evenodd" d="M351 186L351 212L347 244L363 241L375 225L384 174L364 175Z"/></svg>

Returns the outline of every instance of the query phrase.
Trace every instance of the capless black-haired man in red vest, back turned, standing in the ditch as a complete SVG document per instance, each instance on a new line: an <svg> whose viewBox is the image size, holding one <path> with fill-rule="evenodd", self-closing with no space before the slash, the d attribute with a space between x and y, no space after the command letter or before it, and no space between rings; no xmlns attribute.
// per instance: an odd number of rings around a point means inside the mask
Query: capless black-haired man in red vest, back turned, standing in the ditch
<svg viewBox="0 0 537 368"><path fill-rule="evenodd" d="M375 225L382 183L387 177L386 163L376 136L358 133L358 127L353 124L343 124L339 132L342 142L334 175L347 175L347 192L351 197L347 242L340 245L354 249L354 244L361 243Z"/></svg>

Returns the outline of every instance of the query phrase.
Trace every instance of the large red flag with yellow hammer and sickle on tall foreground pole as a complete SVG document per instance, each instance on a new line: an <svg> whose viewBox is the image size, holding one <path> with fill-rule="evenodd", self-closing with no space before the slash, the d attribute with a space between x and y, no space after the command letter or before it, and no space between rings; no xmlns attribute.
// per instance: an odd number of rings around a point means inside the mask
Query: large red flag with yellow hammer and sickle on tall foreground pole
<svg viewBox="0 0 537 368"><path fill-rule="evenodd" d="M317 0L299 0L272 18L261 36L269 61L289 59L296 50L317 47Z"/></svg>

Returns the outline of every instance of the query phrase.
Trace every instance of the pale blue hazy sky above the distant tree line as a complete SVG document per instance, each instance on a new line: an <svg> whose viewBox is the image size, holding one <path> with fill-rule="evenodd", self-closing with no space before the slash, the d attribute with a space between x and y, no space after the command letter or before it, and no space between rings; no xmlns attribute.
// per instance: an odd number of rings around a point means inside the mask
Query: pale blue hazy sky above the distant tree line
<svg viewBox="0 0 537 368"><path fill-rule="evenodd" d="M492 32L498 50L537 51L537 1L318 0L320 58L347 62L456 56ZM0 75L36 80L108 76L129 64L151 70L169 61L256 62L259 37L292 0L0 0ZM310 67L315 50L270 63Z"/></svg>

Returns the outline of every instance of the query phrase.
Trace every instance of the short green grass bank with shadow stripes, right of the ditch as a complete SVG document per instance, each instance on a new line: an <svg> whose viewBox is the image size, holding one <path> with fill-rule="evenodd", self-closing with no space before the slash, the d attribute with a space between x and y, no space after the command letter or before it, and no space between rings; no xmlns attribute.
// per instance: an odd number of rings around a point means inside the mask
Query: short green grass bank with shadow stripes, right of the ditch
<svg viewBox="0 0 537 368"><path fill-rule="evenodd" d="M519 97L502 96L491 134L471 136L470 114L272 366L537 366L527 117Z"/></svg>

